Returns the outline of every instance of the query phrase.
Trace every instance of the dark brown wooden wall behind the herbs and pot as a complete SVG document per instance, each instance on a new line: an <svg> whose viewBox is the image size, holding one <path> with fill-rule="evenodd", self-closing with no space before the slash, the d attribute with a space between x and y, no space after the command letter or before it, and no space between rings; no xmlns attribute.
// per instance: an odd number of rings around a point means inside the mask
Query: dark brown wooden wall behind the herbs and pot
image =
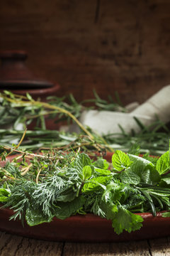
<svg viewBox="0 0 170 256"><path fill-rule="evenodd" d="M143 102L170 83L169 0L5 0L0 50L26 50L58 95Z"/></svg>

